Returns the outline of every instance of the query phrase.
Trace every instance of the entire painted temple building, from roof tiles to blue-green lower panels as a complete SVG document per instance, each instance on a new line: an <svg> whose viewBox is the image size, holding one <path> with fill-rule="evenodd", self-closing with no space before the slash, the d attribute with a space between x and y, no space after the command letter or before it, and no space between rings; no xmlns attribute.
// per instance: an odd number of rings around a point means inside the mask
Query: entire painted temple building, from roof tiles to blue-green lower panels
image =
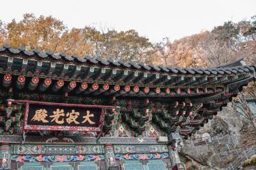
<svg viewBox="0 0 256 170"><path fill-rule="evenodd" d="M178 149L255 66L142 63L0 47L0 169L185 169Z"/></svg>

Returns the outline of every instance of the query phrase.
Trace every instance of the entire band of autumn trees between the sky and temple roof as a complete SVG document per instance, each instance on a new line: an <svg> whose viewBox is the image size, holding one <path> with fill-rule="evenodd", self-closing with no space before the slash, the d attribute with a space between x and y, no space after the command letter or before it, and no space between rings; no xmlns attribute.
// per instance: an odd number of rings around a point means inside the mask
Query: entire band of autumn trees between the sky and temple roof
<svg viewBox="0 0 256 170"><path fill-rule="evenodd" d="M164 38L154 44L135 30L90 26L68 29L52 16L37 18L34 14L24 14L19 22L0 21L0 44L4 43L13 48L26 46L27 50L38 48L53 53L76 53L81 57L101 56L163 66L216 66L240 57L255 64L256 16L239 23L229 21L212 31L202 31L174 42Z"/></svg>

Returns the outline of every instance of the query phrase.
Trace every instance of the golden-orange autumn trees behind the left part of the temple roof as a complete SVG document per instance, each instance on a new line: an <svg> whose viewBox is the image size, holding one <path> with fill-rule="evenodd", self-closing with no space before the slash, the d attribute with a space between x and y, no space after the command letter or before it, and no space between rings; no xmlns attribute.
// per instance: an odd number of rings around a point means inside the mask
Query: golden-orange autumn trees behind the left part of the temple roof
<svg viewBox="0 0 256 170"><path fill-rule="evenodd" d="M26 46L53 53L76 53L83 57L105 57L125 61L150 62L153 44L134 30L97 30L94 27L68 29L61 20L52 16L24 14L23 20L0 23L0 43L13 48Z"/></svg>

